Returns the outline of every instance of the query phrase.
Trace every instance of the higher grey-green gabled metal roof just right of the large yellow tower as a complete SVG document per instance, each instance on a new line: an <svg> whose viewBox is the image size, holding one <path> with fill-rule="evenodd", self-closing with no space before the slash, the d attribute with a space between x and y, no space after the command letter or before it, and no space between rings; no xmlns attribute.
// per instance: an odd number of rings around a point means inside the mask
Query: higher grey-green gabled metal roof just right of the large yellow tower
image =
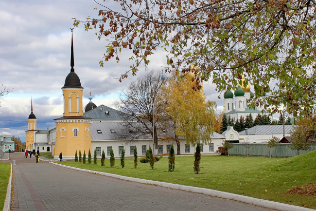
<svg viewBox="0 0 316 211"><path fill-rule="evenodd" d="M107 107L105 105L100 105L88 112L84 113L84 116L90 117L92 119L122 119L119 116L120 111Z"/></svg>

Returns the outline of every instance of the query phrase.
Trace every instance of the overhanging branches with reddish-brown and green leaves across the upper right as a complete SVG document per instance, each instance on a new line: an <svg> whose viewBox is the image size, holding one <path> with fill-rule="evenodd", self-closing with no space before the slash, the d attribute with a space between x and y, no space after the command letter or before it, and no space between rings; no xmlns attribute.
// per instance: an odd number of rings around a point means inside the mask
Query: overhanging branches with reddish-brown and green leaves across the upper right
<svg viewBox="0 0 316 211"><path fill-rule="evenodd" d="M315 113L314 0L117 0L107 6L82 22L109 42L101 66L130 55L120 81L160 48L168 54L167 70L188 72L194 61L199 79L212 79L218 91L243 85L245 75L244 86L251 82L255 91L250 108L262 104L277 112L283 104L289 114ZM80 22L74 19L75 26Z"/></svg>

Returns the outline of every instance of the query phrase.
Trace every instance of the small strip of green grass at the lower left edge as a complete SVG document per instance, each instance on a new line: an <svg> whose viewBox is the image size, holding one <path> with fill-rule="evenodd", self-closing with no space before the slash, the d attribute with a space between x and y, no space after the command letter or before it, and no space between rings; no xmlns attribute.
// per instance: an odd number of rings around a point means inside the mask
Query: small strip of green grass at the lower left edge
<svg viewBox="0 0 316 211"><path fill-rule="evenodd" d="M0 210L3 210L11 173L10 163L0 163Z"/></svg>

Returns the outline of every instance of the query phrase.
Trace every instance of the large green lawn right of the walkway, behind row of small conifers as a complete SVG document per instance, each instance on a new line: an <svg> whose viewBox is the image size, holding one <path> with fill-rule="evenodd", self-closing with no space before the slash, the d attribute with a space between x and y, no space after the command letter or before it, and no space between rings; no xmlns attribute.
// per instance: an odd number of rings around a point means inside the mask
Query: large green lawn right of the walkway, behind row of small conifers
<svg viewBox="0 0 316 211"><path fill-rule="evenodd" d="M97 165L93 165L93 160L91 165L74 161L57 163L316 209L316 197L284 193L298 185L316 183L316 151L289 158L204 155L199 174L193 172L193 161L193 156L176 157L175 172L168 172L167 157L156 162L154 170L151 170L149 163L140 162L138 168L134 169L134 159L125 159L124 169L119 159L115 160L113 168L110 168L108 159L105 160L105 166L101 166L100 160Z"/></svg>

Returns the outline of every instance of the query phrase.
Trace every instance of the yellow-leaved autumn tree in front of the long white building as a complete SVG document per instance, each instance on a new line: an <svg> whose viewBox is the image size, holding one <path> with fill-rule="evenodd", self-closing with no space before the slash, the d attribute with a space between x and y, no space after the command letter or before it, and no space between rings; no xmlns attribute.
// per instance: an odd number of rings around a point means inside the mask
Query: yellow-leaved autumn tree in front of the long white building
<svg viewBox="0 0 316 211"><path fill-rule="evenodd" d="M182 80L178 80L179 77L180 73L173 72L159 97L174 129L175 137L172 139L176 141L177 154L180 154L180 138L185 138L192 146L200 139L204 144L210 142L216 109L215 102L205 101L201 92L193 89L195 80L191 74Z"/></svg>

